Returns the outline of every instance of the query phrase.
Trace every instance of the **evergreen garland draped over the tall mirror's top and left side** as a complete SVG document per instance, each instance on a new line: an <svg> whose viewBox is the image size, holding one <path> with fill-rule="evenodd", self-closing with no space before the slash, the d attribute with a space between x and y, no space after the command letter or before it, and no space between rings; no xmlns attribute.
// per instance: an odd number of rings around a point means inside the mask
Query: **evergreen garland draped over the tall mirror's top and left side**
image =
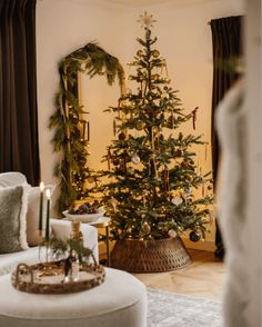
<svg viewBox="0 0 262 327"><path fill-rule="evenodd" d="M59 62L59 90L54 97L54 113L49 123L49 128L54 129L53 149L61 153L60 161L54 167L54 176L60 179L59 212L74 200L88 196L84 187L88 178L95 181L87 165L89 123L82 118L87 112L79 105L78 71L85 71L90 78L105 76L110 86L117 78L121 93L124 88L124 72L119 60L95 43L88 43Z"/></svg>

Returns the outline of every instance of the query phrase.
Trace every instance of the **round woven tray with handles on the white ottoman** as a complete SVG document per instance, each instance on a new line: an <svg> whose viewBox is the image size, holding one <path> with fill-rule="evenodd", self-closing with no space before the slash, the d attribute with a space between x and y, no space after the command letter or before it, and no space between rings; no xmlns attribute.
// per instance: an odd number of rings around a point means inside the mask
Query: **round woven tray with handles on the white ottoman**
<svg viewBox="0 0 262 327"><path fill-rule="evenodd" d="M34 294L67 294L87 290L104 281L105 271L101 265L84 265L78 280L67 280L63 262L52 261L28 266L19 264L11 274L12 286L21 291Z"/></svg>

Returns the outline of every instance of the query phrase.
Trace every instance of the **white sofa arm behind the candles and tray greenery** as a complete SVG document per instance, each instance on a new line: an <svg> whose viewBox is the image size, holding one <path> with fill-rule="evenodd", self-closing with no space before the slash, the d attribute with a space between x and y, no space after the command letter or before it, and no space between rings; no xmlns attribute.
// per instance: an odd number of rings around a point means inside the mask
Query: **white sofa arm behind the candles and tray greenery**
<svg viewBox="0 0 262 327"><path fill-rule="evenodd" d="M71 221L62 220L62 219L51 219L51 228L53 235L61 239L66 240L70 237L71 232ZM83 246L91 249L93 255L99 260L99 251L98 251L98 230L93 226L89 226L87 224L81 224L81 231L83 234Z"/></svg>

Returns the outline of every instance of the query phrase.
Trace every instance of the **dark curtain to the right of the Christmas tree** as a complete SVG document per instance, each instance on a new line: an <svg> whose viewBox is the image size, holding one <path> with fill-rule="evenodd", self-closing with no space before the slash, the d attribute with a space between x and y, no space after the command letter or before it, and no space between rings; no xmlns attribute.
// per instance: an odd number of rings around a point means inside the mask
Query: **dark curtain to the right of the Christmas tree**
<svg viewBox="0 0 262 327"><path fill-rule="evenodd" d="M218 103L224 97L226 90L239 78L233 69L235 59L242 53L242 17L226 17L211 20L212 43L213 43L213 95L212 95L212 164L214 185L216 181L220 145L214 128L214 116ZM216 219L215 231L215 256L223 258L224 247Z"/></svg>

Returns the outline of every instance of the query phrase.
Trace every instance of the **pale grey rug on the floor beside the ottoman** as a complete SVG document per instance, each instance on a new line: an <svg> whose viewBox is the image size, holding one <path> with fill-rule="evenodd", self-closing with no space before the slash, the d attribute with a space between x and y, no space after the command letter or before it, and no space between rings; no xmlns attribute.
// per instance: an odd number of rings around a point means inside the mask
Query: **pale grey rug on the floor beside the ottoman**
<svg viewBox="0 0 262 327"><path fill-rule="evenodd" d="M148 289L148 327L222 327L218 301Z"/></svg>

